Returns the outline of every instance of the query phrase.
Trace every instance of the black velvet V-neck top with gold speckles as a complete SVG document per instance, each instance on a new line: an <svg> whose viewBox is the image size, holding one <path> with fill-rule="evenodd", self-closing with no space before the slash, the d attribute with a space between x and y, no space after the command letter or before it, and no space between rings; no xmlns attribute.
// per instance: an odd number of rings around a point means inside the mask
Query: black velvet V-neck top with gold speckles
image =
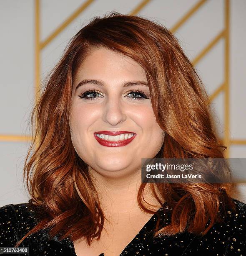
<svg viewBox="0 0 246 256"><path fill-rule="evenodd" d="M233 202L237 212L228 208L223 223L214 224L203 237L180 233L153 238L153 233L149 231L155 228L157 215L154 214L120 256L246 256L246 204L236 199ZM171 209L165 203L157 212L162 223L170 223ZM35 224L37 219L28 209L28 203L0 207L0 247L15 246ZM28 236L19 247L22 246L29 247L29 254L20 255L76 256L73 241L69 238L59 241L58 236L50 239L44 229Z"/></svg>

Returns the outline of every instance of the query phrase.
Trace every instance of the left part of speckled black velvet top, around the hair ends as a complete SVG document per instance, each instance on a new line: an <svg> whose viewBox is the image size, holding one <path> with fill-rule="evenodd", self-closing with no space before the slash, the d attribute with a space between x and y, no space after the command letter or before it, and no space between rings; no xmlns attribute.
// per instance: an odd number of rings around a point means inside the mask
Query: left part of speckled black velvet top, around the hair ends
<svg viewBox="0 0 246 256"><path fill-rule="evenodd" d="M0 207L0 247L14 247L39 222L35 207L29 203ZM31 234L19 247L29 247L29 255L72 255L73 243L68 239L50 238L48 230ZM73 254L74 255L74 254Z"/></svg>

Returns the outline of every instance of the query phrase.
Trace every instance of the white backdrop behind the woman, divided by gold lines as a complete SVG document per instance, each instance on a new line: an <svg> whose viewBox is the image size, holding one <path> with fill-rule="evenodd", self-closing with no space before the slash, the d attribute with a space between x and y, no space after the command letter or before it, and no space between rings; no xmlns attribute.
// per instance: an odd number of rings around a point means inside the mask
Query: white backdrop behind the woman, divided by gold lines
<svg viewBox="0 0 246 256"><path fill-rule="evenodd" d="M38 1L36 1L38 2ZM40 77L43 79L61 54L70 38L93 16L116 10L156 20L171 29L192 8L201 3L175 35L188 57L193 60L225 27L227 0L141 0L91 1L61 33L40 53ZM203 3L204 2L204 3ZM85 0L40 0L40 41L45 41ZM229 3L229 102L220 92L211 102L219 136L229 129L229 157L246 157L246 1ZM35 0L0 1L0 206L27 202L22 184L22 170L28 143L28 118L35 101ZM221 38L198 63L196 69L211 95L225 77L225 40ZM229 107L226 127L225 109ZM246 170L245 170L246 171ZM238 184L235 198L246 202L246 186Z"/></svg>

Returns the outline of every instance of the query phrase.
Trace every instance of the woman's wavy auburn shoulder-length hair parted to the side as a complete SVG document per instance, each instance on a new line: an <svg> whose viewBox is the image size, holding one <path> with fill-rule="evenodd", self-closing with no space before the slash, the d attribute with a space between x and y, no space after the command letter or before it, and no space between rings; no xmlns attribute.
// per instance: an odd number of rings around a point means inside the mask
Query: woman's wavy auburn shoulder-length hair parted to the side
<svg viewBox="0 0 246 256"><path fill-rule="evenodd" d="M73 36L33 110L33 142L24 181L31 196L29 207L40 221L15 246L43 228L48 228L51 237L59 234L59 239L84 237L88 245L100 238L103 210L87 165L73 148L69 128L73 77L85 56L100 46L131 57L146 71L153 112L166 132L156 157L223 158L226 147L219 145L215 135L208 96L176 37L139 16L113 11L95 17ZM138 205L154 214L144 204L145 186L141 184L138 191ZM171 224L159 231L156 226L155 236L183 231L203 236L221 221L220 202L223 210L225 205L233 207L227 193L233 189L231 183L151 184L151 188L159 202L166 201L172 208Z"/></svg>

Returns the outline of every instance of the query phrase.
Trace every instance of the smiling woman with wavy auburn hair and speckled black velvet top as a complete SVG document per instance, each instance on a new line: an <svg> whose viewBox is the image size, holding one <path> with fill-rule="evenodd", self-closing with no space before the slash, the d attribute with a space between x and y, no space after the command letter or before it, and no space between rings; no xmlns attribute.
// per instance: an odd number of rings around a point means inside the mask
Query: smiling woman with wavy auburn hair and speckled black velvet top
<svg viewBox="0 0 246 256"><path fill-rule="evenodd" d="M201 80L163 26L115 12L94 18L65 50L32 120L31 199L0 208L2 247L245 255L246 205L229 196L231 184L141 183L143 158L223 158L225 148Z"/></svg>

